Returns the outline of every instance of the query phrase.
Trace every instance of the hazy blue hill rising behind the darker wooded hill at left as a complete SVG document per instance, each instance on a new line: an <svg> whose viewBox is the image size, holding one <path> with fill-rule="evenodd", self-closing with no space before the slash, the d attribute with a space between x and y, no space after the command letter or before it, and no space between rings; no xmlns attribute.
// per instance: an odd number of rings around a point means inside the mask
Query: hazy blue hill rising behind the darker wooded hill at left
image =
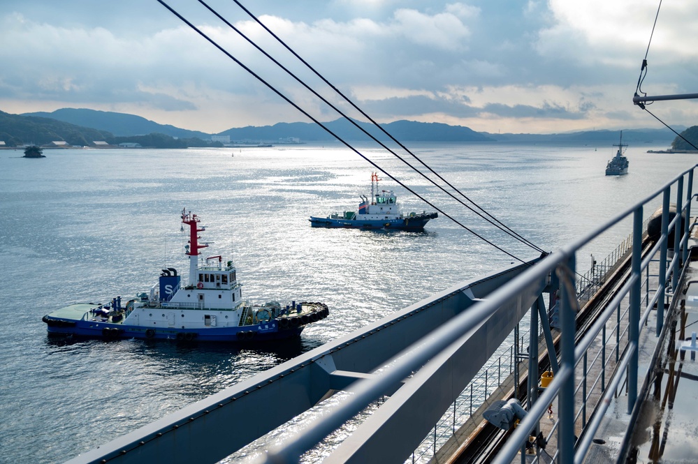
<svg viewBox="0 0 698 464"><path fill-rule="evenodd" d="M61 110L50 113L24 113L22 116L52 118L75 124L76 126L107 130L117 137L159 133L183 139L197 137L205 140L211 138L210 134L199 132L198 130L180 129L169 124L157 124L157 122L134 114L88 110L87 108L61 108Z"/></svg>

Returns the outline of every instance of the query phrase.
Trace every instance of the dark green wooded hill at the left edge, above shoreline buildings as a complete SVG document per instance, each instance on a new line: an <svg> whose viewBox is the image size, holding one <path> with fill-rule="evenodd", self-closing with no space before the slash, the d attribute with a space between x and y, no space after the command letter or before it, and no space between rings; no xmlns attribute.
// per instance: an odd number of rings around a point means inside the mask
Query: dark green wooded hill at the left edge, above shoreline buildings
<svg viewBox="0 0 698 464"><path fill-rule="evenodd" d="M0 140L9 147L20 144L44 145L55 141L86 146L95 140L110 140L113 135L93 128L75 126L56 119L24 117L0 111Z"/></svg>

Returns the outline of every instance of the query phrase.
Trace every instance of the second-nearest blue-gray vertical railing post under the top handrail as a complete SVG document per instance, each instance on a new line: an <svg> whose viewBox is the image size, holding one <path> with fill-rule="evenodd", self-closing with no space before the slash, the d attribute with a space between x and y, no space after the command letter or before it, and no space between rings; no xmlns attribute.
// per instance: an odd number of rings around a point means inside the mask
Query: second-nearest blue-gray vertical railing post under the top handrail
<svg viewBox="0 0 698 464"><path fill-rule="evenodd" d="M632 260L630 262L630 276L635 279L630 287L630 308L628 310L628 343L632 347L627 373L627 413L632 412L637 400L637 365L638 365L638 340L640 334L640 294L642 271L642 206L637 207L633 213L632 221Z"/></svg>

